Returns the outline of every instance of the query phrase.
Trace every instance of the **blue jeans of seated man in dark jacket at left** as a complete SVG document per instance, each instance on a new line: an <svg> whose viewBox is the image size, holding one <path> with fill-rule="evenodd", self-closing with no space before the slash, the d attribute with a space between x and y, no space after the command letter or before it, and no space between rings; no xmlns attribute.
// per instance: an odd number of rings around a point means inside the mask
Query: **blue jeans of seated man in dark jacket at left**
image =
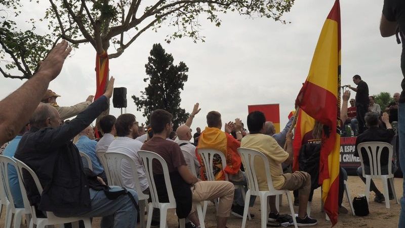
<svg viewBox="0 0 405 228"><path fill-rule="evenodd" d="M115 188L116 186L111 186ZM132 189L127 189L138 203L138 194ZM115 200L109 200L103 191L95 191L90 188L90 200L92 210L85 214L70 214L74 217L103 217L101 219L101 228L134 228L137 220L137 211L134 203L128 195L121 195ZM64 217L60 214L56 216Z"/></svg>

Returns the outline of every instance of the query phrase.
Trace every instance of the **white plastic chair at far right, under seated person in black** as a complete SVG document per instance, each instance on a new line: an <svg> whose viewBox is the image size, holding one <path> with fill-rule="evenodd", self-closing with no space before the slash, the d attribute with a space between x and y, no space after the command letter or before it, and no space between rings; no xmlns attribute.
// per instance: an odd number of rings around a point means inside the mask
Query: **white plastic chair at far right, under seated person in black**
<svg viewBox="0 0 405 228"><path fill-rule="evenodd" d="M388 174L381 174L381 152L383 148L388 148ZM365 173L364 169L364 159L361 155L361 148L365 148L370 164L370 174ZM397 204L398 198L396 197L395 187L394 187L394 174L392 173L392 145L386 142L362 142L357 145L358 155L361 162L361 170L363 172L363 177L366 178L366 198L369 201L370 195L370 183L371 179L381 179L384 185L384 198L385 207L390 208L389 204L389 194L388 194L388 179L391 184L392 194L394 194L394 199Z"/></svg>

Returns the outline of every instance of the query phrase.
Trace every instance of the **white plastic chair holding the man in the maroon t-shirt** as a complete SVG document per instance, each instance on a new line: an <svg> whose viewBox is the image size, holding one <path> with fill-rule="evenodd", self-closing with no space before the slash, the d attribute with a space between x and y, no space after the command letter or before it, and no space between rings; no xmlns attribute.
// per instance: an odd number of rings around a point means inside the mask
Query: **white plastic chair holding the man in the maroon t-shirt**
<svg viewBox="0 0 405 228"><path fill-rule="evenodd" d="M142 159L143 166L145 167L146 178L148 180L150 195L152 198L152 203L149 203L148 221L147 221L146 227L150 228L150 223L152 222L152 216L149 216L149 215L152 214L153 208L159 208L159 210L160 210L160 228L167 227L167 222L166 222L167 211L170 208L176 208L176 201L175 201L174 195L173 195L173 189L172 189L172 184L171 184L170 177L169 177L168 165L167 165L166 161L162 157L160 157L160 155L158 155L154 152L147 151L147 150L139 150L138 154ZM169 197L169 203L161 203L157 196L156 185L155 185L155 181L153 178L153 170L152 170L152 161L154 159L159 161L161 164L161 167L163 168L163 174L165 176L165 184L166 184L167 193L168 193L168 197ZM198 217L204 218L203 209L201 208L201 205L199 203L193 203L193 205L194 205L195 209L197 210ZM180 228L185 227L184 218L179 219L179 223L180 223ZM201 228L205 228L204 219L200 219L200 226L201 226Z"/></svg>

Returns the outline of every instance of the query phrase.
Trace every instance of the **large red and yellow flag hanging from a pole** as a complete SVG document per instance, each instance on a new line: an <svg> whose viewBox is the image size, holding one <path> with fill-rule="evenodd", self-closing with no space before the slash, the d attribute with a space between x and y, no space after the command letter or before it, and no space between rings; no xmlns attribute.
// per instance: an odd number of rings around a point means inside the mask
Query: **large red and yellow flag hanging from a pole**
<svg viewBox="0 0 405 228"><path fill-rule="evenodd" d="M340 33L340 4L336 0L323 24L308 77L296 100L300 109L328 128L322 135L319 183L323 207L333 225L338 219L339 193Z"/></svg>

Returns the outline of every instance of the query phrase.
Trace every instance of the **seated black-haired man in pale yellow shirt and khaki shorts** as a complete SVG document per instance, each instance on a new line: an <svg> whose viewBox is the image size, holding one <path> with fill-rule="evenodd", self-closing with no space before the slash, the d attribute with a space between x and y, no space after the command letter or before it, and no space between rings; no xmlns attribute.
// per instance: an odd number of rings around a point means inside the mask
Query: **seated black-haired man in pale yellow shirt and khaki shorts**
<svg viewBox="0 0 405 228"><path fill-rule="evenodd" d="M267 156L270 164L271 179L275 189L288 189L299 191L300 205L296 217L298 226L309 226L317 223L316 219L310 218L307 211L307 203L311 191L311 176L306 172L296 171L294 173L281 173L281 163L293 163L293 140L292 133L287 135L287 151L282 149L277 141L265 135L266 118L261 111L254 111L248 115L248 129L250 134L242 139L241 147L247 147L261 151ZM258 179L259 189L267 191L267 173L264 172L263 162L255 161L255 170ZM275 206L275 196L269 197L270 214L269 221L280 219ZM290 219L288 219L290 220Z"/></svg>

